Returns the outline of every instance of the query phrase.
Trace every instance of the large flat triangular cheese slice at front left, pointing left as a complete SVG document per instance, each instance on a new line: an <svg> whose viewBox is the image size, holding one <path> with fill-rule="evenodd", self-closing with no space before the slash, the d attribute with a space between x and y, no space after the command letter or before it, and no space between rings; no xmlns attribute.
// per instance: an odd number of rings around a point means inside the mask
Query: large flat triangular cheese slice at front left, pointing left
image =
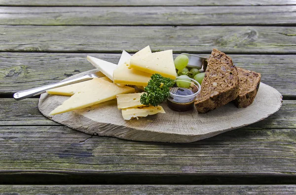
<svg viewBox="0 0 296 195"><path fill-rule="evenodd" d="M54 115L86 108L88 106L115 99L118 94L134 92L135 89L132 87L121 87L117 84L113 84L99 78L94 78L85 90L75 93L49 114Z"/></svg>

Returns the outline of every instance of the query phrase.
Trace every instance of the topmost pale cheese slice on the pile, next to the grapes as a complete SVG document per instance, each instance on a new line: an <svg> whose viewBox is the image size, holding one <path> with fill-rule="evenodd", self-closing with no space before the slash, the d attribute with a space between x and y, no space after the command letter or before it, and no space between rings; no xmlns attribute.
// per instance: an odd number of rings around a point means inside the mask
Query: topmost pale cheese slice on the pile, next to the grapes
<svg viewBox="0 0 296 195"><path fill-rule="evenodd" d="M155 52L146 56L131 57L130 67L150 74L158 73L163 77L176 79L173 50Z"/></svg>

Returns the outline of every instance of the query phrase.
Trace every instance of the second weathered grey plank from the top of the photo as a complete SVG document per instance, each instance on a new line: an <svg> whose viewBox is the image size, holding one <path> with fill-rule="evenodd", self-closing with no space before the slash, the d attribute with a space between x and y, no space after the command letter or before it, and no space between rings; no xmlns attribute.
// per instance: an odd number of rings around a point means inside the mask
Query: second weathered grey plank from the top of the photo
<svg viewBox="0 0 296 195"><path fill-rule="evenodd" d="M0 7L1 25L295 25L296 6Z"/></svg>

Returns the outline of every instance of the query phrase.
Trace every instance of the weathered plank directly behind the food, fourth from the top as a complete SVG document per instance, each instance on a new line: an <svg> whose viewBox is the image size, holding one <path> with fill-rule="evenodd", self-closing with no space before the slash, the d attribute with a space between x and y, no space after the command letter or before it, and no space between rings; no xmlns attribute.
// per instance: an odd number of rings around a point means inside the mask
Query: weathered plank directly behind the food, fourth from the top
<svg viewBox="0 0 296 195"><path fill-rule="evenodd" d="M116 64L120 58L120 54L0 53L0 94L11 96L20 90L59 82L94 69L86 60L87 55ZM261 73L261 82L276 88L284 99L296 99L294 55L229 56L235 65Z"/></svg>

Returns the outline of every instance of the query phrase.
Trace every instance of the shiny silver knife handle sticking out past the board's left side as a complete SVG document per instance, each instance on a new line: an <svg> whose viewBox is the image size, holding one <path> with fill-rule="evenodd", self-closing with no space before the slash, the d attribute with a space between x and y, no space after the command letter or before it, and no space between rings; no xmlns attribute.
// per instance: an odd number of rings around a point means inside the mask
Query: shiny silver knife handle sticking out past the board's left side
<svg viewBox="0 0 296 195"><path fill-rule="evenodd" d="M23 99L44 93L48 89L53 89L53 88L57 88L57 87L65 86L65 85L69 85L69 84L75 84L75 83L87 81L90 79L92 79L92 77L90 77L89 75L84 75L84 76L77 77L75 79L71 79L68 81L62 81L62 82L55 83L55 84L48 84L48 85L44 85L44 86L39 86L39 87L36 87L33 89L19 91L19 92L13 94L13 98L15 100L23 100Z"/></svg>

